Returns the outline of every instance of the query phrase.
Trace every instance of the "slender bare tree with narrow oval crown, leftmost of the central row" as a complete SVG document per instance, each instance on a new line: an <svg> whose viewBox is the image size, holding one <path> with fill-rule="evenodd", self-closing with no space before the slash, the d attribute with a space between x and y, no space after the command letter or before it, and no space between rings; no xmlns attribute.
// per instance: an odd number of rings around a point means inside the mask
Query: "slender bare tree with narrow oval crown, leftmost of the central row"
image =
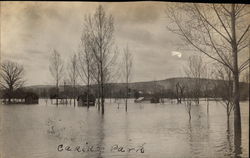
<svg viewBox="0 0 250 158"><path fill-rule="evenodd" d="M49 70L56 83L56 91L57 91L56 105L58 105L59 84L63 77L63 61L61 59L61 55L55 49L53 50L50 57Z"/></svg>

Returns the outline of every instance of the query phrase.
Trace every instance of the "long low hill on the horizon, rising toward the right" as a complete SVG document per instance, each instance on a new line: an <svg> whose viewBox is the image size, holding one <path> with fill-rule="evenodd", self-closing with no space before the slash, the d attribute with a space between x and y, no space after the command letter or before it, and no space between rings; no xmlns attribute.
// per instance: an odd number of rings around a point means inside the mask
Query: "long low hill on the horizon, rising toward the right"
<svg viewBox="0 0 250 158"><path fill-rule="evenodd" d="M147 82L133 82L129 84L130 88L130 97L134 97L136 93L143 94L161 94L163 97L173 97L176 91L177 83L184 86L186 89L191 88L196 82L195 78L179 77L179 78L169 78L165 80L157 81L147 81ZM211 96L215 94L212 93L223 93L225 91L222 87L224 81L222 80L212 80L212 79L200 79L201 91L204 91L205 88L211 90ZM109 83L105 86L105 95L106 97L123 97L125 93L125 83ZM249 96L249 84L240 83L241 95L244 97ZM55 94L55 86L53 85L36 85L36 86L27 86L24 87L26 90L33 91L37 93L40 97L49 97L51 94ZM60 92L65 92L66 95L72 95L72 86L65 85L60 86ZM97 86L91 85L92 93L97 93ZM216 89L216 91L212 91ZM77 95L86 91L86 86L77 86Z"/></svg>

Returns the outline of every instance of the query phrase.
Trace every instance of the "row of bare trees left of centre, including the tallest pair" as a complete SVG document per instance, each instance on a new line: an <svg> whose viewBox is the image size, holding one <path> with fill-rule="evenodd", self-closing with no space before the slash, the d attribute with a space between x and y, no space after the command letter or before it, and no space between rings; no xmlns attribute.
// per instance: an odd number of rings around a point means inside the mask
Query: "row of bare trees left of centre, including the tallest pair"
<svg viewBox="0 0 250 158"><path fill-rule="evenodd" d="M117 76L124 76L127 85L126 98L128 97L128 83L131 79L133 59L128 46L124 48L123 52L122 65L118 65L118 48L114 44L114 20L112 15L106 15L103 7L99 6L93 15L85 17L79 52L74 54L69 62L68 78L73 89L77 85L78 78L87 85L87 100L91 93L90 85L98 85L97 103L98 110L101 109L102 114L104 114L105 86L107 83L117 80ZM124 71L118 75L117 70L121 66ZM63 62L56 50L51 55L50 72L59 91L59 83L63 79ZM125 109L127 111L127 99Z"/></svg>

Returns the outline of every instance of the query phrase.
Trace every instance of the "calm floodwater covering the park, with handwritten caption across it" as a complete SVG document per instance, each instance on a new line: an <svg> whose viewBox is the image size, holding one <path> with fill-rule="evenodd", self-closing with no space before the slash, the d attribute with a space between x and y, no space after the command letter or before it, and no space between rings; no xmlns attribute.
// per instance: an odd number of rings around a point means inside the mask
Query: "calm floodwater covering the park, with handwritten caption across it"
<svg viewBox="0 0 250 158"><path fill-rule="evenodd" d="M48 103L49 104L49 103ZM0 105L1 158L167 158L248 157L249 102L241 103L242 137L234 141L233 115L210 102L129 103L106 100L105 115L96 107ZM240 143L239 143L240 142ZM71 150L71 151L68 151Z"/></svg>

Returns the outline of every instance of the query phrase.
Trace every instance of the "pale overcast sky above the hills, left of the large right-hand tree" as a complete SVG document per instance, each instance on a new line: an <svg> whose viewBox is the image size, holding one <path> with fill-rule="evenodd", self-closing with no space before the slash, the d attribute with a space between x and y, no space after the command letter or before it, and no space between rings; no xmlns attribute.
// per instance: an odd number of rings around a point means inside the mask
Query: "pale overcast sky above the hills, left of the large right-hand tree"
<svg viewBox="0 0 250 158"><path fill-rule="evenodd" d="M112 14L115 42L134 56L132 81L183 76L190 52L166 29L166 2L5 2L1 3L1 60L24 66L26 85L52 84L49 56L53 48L64 61L77 51L86 14L102 4Z"/></svg>

